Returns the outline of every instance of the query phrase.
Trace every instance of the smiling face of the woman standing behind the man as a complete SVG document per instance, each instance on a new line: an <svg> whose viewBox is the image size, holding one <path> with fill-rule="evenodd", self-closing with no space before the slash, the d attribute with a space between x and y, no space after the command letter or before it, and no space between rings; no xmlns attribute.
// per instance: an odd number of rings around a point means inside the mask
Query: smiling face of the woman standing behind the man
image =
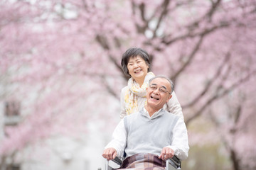
<svg viewBox="0 0 256 170"><path fill-rule="evenodd" d="M146 64L145 60L142 57L137 55L136 57L130 57L127 64L129 74L135 81L143 79L148 73L149 66Z"/></svg>

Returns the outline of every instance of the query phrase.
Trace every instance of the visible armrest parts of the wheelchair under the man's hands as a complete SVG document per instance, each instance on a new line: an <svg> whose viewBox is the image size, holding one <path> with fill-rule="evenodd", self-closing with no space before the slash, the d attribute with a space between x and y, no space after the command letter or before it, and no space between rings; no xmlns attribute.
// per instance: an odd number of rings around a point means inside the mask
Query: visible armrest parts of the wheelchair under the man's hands
<svg viewBox="0 0 256 170"><path fill-rule="evenodd" d="M122 160L119 159L118 157L115 157L114 159L107 161L105 164L105 170L113 170L114 168L112 165L110 165L110 162L113 162L117 166L121 166ZM166 170L176 170L176 169L181 169L181 161L174 155L171 159L166 160Z"/></svg>

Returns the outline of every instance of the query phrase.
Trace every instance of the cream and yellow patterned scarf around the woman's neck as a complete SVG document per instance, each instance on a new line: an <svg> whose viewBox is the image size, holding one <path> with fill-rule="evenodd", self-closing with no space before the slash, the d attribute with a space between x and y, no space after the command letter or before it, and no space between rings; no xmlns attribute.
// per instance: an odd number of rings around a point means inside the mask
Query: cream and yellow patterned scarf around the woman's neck
<svg viewBox="0 0 256 170"><path fill-rule="evenodd" d="M125 110L127 115L138 111L138 98L146 97L146 88L149 86L149 80L152 77L155 77L154 73L148 72L141 87L132 77L128 80L128 89L124 95Z"/></svg>

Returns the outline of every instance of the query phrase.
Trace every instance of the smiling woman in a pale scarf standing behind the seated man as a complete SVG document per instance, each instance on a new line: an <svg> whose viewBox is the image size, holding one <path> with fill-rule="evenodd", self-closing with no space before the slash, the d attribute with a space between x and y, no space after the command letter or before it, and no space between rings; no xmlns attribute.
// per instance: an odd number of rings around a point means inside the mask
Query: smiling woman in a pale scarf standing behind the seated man
<svg viewBox="0 0 256 170"><path fill-rule="evenodd" d="M146 88L149 86L149 79L154 77L154 73L149 72L149 54L141 48L129 48L122 55L121 64L124 74L131 77L127 86L121 91L120 118L124 118L125 115L132 114L144 107ZM181 105L175 92L172 93L172 98L165 104L164 109L183 119Z"/></svg>

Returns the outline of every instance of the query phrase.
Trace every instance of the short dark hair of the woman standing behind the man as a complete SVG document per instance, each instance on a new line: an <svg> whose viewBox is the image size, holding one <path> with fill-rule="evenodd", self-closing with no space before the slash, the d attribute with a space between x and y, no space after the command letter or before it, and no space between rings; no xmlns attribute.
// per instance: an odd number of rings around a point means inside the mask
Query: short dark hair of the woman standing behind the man
<svg viewBox="0 0 256 170"><path fill-rule="evenodd" d="M146 62L146 64L148 66L150 66L149 54L145 50L143 50L142 48L139 48L139 47L130 47L122 55L122 61L121 61L122 70L123 70L124 74L127 74L127 76L130 76L129 70L127 68L127 64L129 62L129 59L131 57L136 57L138 55L143 58L143 60Z"/></svg>

